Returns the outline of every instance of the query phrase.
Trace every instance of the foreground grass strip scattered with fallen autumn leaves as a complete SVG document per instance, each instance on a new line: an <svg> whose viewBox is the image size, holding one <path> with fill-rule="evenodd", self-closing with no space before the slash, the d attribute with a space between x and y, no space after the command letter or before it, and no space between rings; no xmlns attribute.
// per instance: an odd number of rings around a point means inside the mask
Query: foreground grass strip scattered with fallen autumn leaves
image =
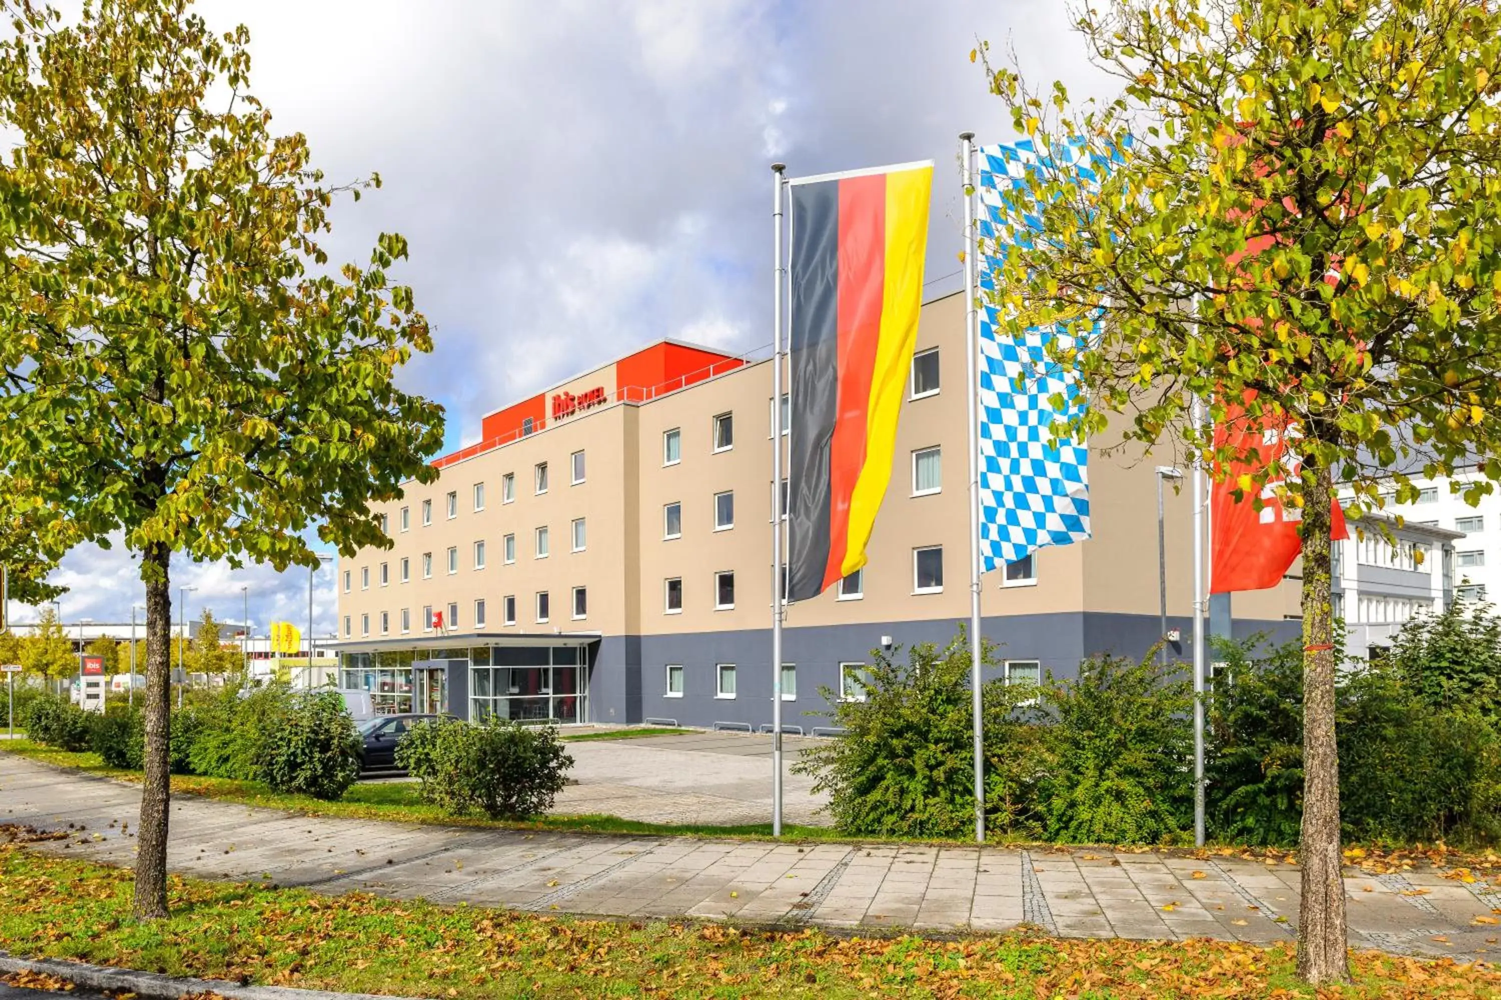
<svg viewBox="0 0 1501 1000"><path fill-rule="evenodd" d="M1289 946L833 937L614 922L173 877L131 919L131 873L0 846L0 949L179 976L437 1000L480 997L1313 997ZM1501 973L1372 952L1354 997L1501 997Z"/></svg>

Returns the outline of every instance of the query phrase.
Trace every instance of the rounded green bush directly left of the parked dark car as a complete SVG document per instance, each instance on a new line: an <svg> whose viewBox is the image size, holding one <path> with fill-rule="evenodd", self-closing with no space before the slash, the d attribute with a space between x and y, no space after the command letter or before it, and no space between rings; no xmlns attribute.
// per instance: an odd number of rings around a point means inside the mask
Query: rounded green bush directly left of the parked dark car
<svg viewBox="0 0 1501 1000"><path fill-rule="evenodd" d="M278 792L338 799L359 777L360 738L335 691L297 694L270 741L263 774Z"/></svg>

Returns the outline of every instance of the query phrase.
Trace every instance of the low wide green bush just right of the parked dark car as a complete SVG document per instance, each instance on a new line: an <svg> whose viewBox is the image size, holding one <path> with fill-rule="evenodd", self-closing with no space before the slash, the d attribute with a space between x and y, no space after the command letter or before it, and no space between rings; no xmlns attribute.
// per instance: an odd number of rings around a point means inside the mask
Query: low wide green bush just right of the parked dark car
<svg viewBox="0 0 1501 1000"><path fill-rule="evenodd" d="M573 759L554 727L491 717L417 723L396 747L396 763L420 781L423 802L458 816L522 819L552 808Z"/></svg>

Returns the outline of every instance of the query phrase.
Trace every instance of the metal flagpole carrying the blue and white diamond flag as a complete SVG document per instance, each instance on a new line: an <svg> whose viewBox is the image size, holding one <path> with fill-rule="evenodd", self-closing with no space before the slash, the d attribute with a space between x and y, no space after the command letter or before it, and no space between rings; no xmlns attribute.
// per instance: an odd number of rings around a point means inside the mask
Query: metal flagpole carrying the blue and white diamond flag
<svg viewBox="0 0 1501 1000"><path fill-rule="evenodd" d="M970 427L970 696L974 715L974 841L985 843L985 676L980 637L980 342L974 310L974 132L959 133L964 163L965 400Z"/></svg>

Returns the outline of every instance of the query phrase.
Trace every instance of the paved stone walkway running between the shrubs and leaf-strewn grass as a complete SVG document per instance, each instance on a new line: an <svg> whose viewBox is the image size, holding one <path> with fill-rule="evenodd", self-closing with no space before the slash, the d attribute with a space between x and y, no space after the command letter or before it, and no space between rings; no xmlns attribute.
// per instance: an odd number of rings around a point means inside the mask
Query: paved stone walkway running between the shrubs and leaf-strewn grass
<svg viewBox="0 0 1501 1000"><path fill-rule="evenodd" d="M621 748L626 742L609 744ZM135 786L0 753L0 822L77 837L39 844L129 865ZM1297 921L1298 871L1240 859L1001 847L793 846L594 837L300 817L177 798L170 865L203 879L269 877L435 903L782 927L1001 931L1273 942ZM1403 954L1498 952L1484 883L1423 870L1345 880L1351 943Z"/></svg>

